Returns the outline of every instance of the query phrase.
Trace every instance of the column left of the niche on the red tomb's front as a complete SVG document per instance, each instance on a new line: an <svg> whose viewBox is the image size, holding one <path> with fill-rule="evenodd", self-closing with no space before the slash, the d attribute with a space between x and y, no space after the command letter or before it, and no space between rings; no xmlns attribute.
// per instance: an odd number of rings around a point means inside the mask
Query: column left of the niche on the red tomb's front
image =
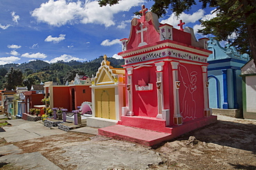
<svg viewBox="0 0 256 170"><path fill-rule="evenodd" d="M132 74L133 74L133 67L127 68L127 98L128 98L128 108L129 112L127 116L134 116L134 108L133 108L133 100L132 100Z"/></svg>

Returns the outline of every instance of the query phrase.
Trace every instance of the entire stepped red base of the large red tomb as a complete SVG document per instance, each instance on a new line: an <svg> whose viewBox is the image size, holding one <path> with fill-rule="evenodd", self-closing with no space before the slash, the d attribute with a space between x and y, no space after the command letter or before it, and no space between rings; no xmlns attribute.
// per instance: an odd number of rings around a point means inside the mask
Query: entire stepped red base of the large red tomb
<svg viewBox="0 0 256 170"><path fill-rule="evenodd" d="M163 120L159 121L156 118L143 118L141 116L122 117L122 121L118 122L119 125L104 127L98 129L98 132L99 135L102 136L152 146L181 136L182 134L194 129L215 123L217 122L217 116L199 118L188 123L183 123L183 125L176 125L174 127L163 127L163 125L165 125L165 121L162 121ZM154 128L156 129L155 131L152 130Z"/></svg>

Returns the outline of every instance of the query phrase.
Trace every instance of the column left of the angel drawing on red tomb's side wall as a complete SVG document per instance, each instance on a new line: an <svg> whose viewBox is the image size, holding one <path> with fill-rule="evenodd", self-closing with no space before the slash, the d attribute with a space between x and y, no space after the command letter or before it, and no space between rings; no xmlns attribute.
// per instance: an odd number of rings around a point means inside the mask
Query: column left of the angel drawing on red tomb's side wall
<svg viewBox="0 0 256 170"><path fill-rule="evenodd" d="M172 82L173 82L173 94L174 94L174 125L182 125L182 116L180 113L179 105L179 87L180 81L178 77L178 61L171 61L172 65Z"/></svg>

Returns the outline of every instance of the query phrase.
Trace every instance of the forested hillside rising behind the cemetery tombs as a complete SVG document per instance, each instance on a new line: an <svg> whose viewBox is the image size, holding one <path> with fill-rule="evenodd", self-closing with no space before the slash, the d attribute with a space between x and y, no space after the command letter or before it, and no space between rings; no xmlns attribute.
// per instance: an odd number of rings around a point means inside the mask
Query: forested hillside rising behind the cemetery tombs
<svg viewBox="0 0 256 170"><path fill-rule="evenodd" d="M45 61L30 61L29 63L19 64L6 64L0 65L0 89L3 89L6 85L6 74L11 67L19 69L23 74L22 86L27 86L29 89L33 84L39 84L46 81L55 81L60 85L64 85L66 81L71 81L75 77L75 74L86 75L92 77L98 71L100 63L102 62L102 56L92 61L58 61L57 63L46 63ZM107 58L111 62L113 67L122 67L124 64L123 59Z"/></svg>

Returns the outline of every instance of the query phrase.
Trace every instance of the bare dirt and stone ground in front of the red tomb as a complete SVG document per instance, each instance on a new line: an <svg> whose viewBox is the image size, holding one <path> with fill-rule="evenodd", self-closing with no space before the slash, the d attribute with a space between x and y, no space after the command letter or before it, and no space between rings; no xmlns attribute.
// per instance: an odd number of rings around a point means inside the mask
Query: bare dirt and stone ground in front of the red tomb
<svg viewBox="0 0 256 170"><path fill-rule="evenodd" d="M256 169L255 141L256 120L227 116L155 147L71 131L17 142L0 138L0 170Z"/></svg>

